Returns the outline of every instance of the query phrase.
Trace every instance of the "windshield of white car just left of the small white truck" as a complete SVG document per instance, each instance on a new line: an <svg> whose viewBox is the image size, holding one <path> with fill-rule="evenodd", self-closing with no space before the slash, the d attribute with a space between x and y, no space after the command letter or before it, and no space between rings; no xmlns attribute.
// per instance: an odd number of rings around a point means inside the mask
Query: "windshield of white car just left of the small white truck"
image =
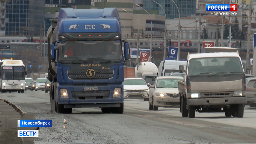
<svg viewBox="0 0 256 144"><path fill-rule="evenodd" d="M158 79L156 88L178 88L178 81L183 79Z"/></svg>

